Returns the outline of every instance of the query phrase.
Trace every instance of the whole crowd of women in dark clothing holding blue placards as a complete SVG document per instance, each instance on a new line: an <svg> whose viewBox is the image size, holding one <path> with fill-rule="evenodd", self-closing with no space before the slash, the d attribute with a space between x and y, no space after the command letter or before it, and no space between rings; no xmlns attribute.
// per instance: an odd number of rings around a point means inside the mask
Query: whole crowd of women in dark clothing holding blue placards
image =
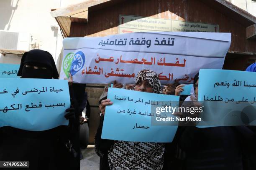
<svg viewBox="0 0 256 170"><path fill-rule="evenodd" d="M246 71L256 72L256 63ZM23 55L18 76L59 78L53 57L43 50L31 50ZM195 75L192 94L181 95L180 100L197 102L199 78L199 74ZM0 160L29 161L28 169L31 170L79 169L78 132L79 122L84 121L81 113L86 101L85 85L69 82L72 105L64 115L69 120L69 126L40 132L3 127L0 129ZM134 85L122 85L115 81L113 87L180 95L183 85L178 83L162 88L156 72L141 70ZM179 126L172 143L106 140L101 139L105 108L113 104L108 99L108 87L104 88L99 102L100 125L95 135L95 151L100 156L100 170L256 170L254 127Z"/></svg>

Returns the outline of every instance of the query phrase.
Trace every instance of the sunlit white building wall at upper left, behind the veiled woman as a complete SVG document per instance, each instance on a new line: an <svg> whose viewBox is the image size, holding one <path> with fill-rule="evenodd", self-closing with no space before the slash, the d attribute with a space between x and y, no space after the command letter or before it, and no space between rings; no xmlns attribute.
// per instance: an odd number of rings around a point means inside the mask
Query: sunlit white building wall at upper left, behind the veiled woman
<svg viewBox="0 0 256 170"><path fill-rule="evenodd" d="M39 43L39 49L54 57L56 64L62 49L62 35L51 9L85 0L0 0L0 30L27 32ZM58 29L52 29L57 26ZM0 63L20 63L17 55L0 54Z"/></svg>

